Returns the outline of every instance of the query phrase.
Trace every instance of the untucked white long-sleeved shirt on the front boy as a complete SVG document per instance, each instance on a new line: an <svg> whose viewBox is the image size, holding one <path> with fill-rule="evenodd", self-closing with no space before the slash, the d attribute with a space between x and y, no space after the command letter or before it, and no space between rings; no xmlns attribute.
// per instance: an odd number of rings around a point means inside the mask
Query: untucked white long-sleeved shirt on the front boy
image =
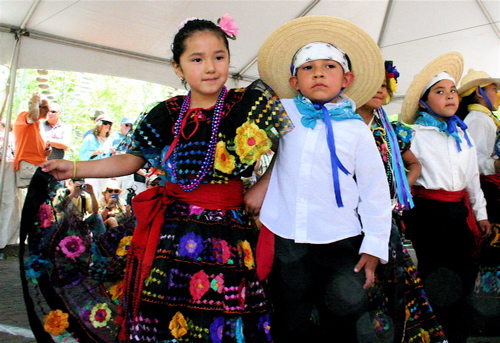
<svg viewBox="0 0 500 343"><path fill-rule="evenodd" d="M344 203L339 208L325 123L318 120L314 129L306 128L293 99L281 101L295 129L280 140L260 220L276 235L297 243L326 244L364 232L360 254L387 262L391 199L372 132L361 120L332 120L337 155L351 173L339 170Z"/></svg>

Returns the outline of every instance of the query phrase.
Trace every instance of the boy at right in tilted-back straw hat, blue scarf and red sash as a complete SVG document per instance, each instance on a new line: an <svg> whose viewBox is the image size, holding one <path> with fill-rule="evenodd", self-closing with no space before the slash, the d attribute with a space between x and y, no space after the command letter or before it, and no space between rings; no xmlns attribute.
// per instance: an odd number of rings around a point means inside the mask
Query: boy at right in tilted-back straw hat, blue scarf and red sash
<svg viewBox="0 0 500 343"><path fill-rule="evenodd" d="M412 151L422 164L415 206L404 221L429 302L450 343L465 343L469 335L474 256L491 230L474 142L455 115L462 69L457 52L435 58L415 76L402 107L402 118L414 123Z"/></svg>

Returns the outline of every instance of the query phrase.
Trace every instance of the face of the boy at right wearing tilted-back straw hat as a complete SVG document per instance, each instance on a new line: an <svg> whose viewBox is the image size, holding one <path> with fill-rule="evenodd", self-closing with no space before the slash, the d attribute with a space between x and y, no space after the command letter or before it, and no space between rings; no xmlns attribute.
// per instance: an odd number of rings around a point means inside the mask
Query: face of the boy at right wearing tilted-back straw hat
<svg viewBox="0 0 500 343"><path fill-rule="evenodd" d="M458 110L459 97L455 83L451 80L441 80L430 89L427 105L443 117L452 117ZM420 105L422 107L422 105ZM440 119L440 118L438 118Z"/></svg>

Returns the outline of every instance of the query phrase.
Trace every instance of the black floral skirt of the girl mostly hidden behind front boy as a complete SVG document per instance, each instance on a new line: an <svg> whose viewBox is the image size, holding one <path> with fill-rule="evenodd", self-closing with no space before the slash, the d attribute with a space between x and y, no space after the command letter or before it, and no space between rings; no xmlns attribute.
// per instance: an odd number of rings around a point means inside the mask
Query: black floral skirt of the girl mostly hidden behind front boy
<svg viewBox="0 0 500 343"><path fill-rule="evenodd" d="M404 247L401 216L393 212L389 262L379 264L369 289L373 328L381 342L445 343L417 268Z"/></svg>

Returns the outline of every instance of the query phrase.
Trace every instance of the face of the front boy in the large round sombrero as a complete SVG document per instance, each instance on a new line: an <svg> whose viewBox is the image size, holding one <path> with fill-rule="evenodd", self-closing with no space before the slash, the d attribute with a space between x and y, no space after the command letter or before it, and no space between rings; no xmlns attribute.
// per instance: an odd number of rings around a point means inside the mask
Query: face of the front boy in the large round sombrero
<svg viewBox="0 0 500 343"><path fill-rule="evenodd" d="M313 103L325 103L353 81L354 74L344 73L338 62L315 60L306 62L297 69L297 75L290 77L290 86ZM337 98L333 102L337 102Z"/></svg>

